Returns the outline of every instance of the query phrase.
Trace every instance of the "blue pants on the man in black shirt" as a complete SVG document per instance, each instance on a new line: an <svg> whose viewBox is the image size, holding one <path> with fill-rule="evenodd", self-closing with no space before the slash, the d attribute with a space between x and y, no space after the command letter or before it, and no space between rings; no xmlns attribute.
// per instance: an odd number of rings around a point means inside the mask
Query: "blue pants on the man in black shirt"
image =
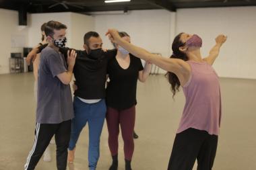
<svg viewBox="0 0 256 170"><path fill-rule="evenodd" d="M96 169L98 158L100 157L100 134L106 116L106 103L104 99L98 101L98 103L84 103L79 98L74 97L73 107L75 118L73 118L71 125L69 151L72 151L73 148L75 148L79 134L88 122L88 161L90 170L94 170Z"/></svg>

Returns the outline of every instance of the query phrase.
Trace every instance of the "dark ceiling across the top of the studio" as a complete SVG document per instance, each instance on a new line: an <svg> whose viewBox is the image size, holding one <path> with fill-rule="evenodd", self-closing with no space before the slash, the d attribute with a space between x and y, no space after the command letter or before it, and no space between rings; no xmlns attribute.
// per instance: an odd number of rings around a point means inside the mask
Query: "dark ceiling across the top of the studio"
<svg viewBox="0 0 256 170"><path fill-rule="evenodd" d="M131 0L124 3L104 3L104 0L0 0L0 8L25 9L29 13L73 11L129 11L137 9L167 9L195 7L254 6L256 0Z"/></svg>

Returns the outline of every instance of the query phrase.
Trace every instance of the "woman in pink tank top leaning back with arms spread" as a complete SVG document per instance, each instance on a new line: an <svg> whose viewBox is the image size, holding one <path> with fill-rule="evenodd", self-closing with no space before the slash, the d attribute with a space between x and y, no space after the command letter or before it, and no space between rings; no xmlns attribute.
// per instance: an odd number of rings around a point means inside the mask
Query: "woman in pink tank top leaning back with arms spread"
<svg viewBox="0 0 256 170"><path fill-rule="evenodd" d="M221 119L220 85L212 65L226 36L218 36L209 56L202 58L201 38L181 33L172 42L172 56L165 58L125 42L117 30L108 30L107 34L131 54L168 71L166 76L173 96L180 86L183 87L186 103L168 170L191 170L196 159L197 170L212 169Z"/></svg>

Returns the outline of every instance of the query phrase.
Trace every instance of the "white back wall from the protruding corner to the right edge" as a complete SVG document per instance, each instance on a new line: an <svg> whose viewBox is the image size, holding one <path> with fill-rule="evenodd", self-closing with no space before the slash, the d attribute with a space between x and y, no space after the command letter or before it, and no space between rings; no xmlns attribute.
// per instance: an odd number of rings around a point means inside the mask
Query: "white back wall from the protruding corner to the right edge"
<svg viewBox="0 0 256 170"><path fill-rule="evenodd" d="M214 68L220 77L256 79L256 7L225 7L131 11L129 15L97 15L96 31L106 48L112 48L103 35L117 28L131 35L133 44L150 52L170 56L174 35L199 34L203 38L203 56L214 46L218 34L228 35ZM164 72L163 72L164 73Z"/></svg>

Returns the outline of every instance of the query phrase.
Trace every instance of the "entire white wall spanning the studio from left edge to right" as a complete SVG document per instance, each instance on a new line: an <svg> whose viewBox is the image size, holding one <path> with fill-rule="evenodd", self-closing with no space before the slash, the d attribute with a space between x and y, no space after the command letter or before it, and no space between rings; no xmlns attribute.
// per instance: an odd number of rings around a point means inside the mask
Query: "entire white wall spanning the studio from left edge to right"
<svg viewBox="0 0 256 170"><path fill-rule="evenodd" d="M203 38L203 55L214 45L214 38L228 35L214 68L220 77L256 79L256 7L229 7L205 9L179 9L177 13L166 10L131 11L129 15L96 15L90 17L77 13L39 13L28 16L28 28L20 31L18 12L0 9L1 39L0 73L9 72L11 35L23 35L28 46L40 41L40 26L51 19L63 22L67 29L67 46L82 49L83 36L96 30L103 39L104 48L113 48L104 36L108 28L117 28L130 34L133 44L150 52L170 56L174 35L179 32L199 34ZM165 71L162 71L165 73Z"/></svg>

